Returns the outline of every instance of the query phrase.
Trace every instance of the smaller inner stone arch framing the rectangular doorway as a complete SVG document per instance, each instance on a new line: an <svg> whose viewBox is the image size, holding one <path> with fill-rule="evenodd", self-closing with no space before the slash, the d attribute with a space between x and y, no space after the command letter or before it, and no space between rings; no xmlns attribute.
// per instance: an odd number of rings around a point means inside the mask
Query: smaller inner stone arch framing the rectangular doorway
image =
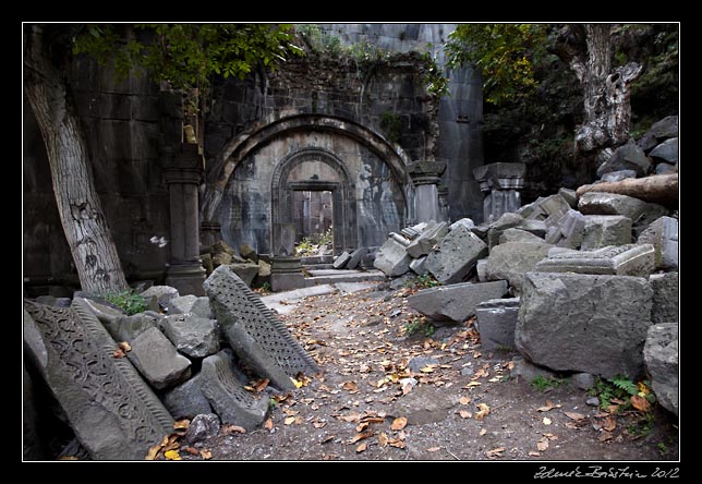
<svg viewBox="0 0 702 484"><path fill-rule="evenodd" d="M326 168L326 169L325 169ZM325 149L306 147L286 157L273 176L271 247L275 254L291 254L294 244L294 191L329 191L334 199L334 252L355 249L355 186L337 156Z"/></svg>

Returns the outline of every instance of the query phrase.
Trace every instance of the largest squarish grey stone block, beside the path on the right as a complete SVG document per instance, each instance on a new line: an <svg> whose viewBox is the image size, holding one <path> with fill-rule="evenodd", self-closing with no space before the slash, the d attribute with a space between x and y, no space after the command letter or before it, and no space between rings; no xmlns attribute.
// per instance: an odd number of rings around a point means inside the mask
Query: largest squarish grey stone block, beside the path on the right
<svg viewBox="0 0 702 484"><path fill-rule="evenodd" d="M640 277L528 273L517 349L556 371L639 378L652 298Z"/></svg>

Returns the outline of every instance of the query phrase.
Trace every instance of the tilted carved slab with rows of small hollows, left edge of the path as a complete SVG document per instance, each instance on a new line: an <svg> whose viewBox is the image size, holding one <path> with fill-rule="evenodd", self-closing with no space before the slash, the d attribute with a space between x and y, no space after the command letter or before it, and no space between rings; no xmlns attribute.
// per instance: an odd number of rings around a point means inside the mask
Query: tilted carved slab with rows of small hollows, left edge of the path
<svg viewBox="0 0 702 484"><path fill-rule="evenodd" d="M280 389L293 389L291 376L318 372L288 328L228 267L215 269L203 287L232 349L262 377Z"/></svg>

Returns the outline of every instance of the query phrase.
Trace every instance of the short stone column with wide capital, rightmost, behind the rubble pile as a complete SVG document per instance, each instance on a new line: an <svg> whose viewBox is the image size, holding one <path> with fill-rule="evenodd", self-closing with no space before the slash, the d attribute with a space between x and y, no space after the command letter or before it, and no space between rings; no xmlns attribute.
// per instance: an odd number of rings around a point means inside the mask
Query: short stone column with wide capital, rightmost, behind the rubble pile
<svg viewBox="0 0 702 484"><path fill-rule="evenodd" d="M508 211L521 207L519 191L524 186L524 164L489 164L473 170L473 177L486 193L483 201L483 221L493 222Z"/></svg>

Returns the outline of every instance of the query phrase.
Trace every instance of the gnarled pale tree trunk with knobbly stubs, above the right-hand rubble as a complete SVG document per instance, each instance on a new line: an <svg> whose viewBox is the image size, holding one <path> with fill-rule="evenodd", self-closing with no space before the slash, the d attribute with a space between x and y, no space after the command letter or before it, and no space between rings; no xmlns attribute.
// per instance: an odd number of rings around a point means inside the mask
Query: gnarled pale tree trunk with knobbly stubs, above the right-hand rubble
<svg viewBox="0 0 702 484"><path fill-rule="evenodd" d="M576 148L600 152L601 162L629 140L629 85L642 69L630 62L613 71L610 31L610 24L570 25L560 33L562 45L556 49L583 88L585 119L576 131Z"/></svg>

